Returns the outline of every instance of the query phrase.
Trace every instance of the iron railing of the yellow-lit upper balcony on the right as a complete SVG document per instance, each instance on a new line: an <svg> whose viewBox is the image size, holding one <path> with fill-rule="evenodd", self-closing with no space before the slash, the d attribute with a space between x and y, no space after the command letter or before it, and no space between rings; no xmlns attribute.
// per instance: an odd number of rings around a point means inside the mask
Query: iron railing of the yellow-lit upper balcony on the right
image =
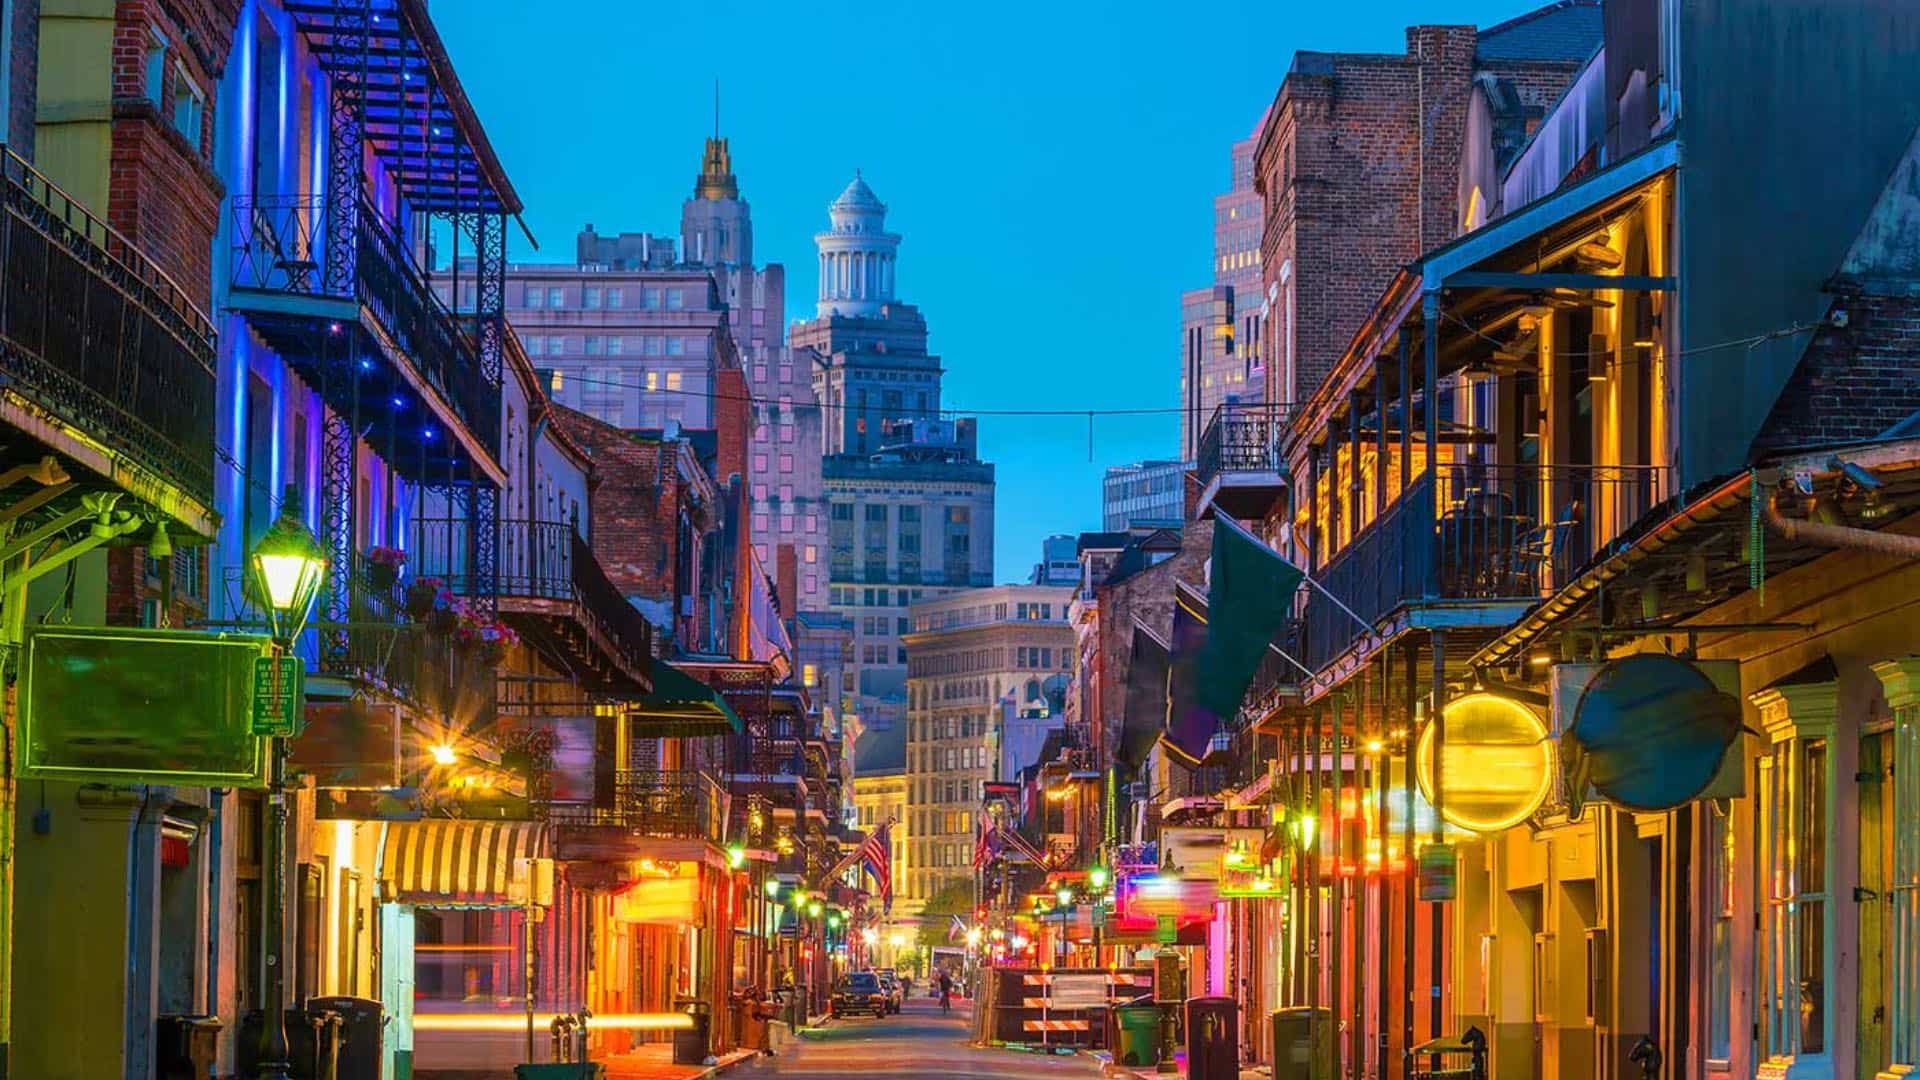
<svg viewBox="0 0 1920 1080"><path fill-rule="evenodd" d="M1354 615L1373 625L1421 600L1538 600L1665 492L1665 469L1634 465L1467 463L1421 475L1313 571L1352 615L1308 600L1306 663L1321 669L1354 644Z"/></svg>

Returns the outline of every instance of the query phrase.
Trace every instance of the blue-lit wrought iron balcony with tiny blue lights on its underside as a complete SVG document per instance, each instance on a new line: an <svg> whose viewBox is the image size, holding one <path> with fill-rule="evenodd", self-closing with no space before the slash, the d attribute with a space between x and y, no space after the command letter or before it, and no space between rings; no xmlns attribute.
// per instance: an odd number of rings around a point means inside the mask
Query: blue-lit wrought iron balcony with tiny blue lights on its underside
<svg viewBox="0 0 1920 1080"><path fill-rule="evenodd" d="M434 400L495 454L499 386L484 373L472 321L455 321L371 202L344 227L328 213L338 211L319 196L234 198L230 304L332 407L357 409L372 446L405 446L392 461L401 473L432 473L449 454L422 446ZM351 244L351 261L328 244ZM344 342L363 321L369 332Z"/></svg>

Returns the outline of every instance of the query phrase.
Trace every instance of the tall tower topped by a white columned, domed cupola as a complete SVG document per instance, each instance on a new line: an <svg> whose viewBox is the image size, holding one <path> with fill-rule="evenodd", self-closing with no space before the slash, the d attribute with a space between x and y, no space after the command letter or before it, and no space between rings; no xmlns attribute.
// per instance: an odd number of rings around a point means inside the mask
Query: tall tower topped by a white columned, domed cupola
<svg viewBox="0 0 1920 1080"><path fill-rule="evenodd" d="M862 721L885 728L906 709L906 607L993 582L993 465L972 419L939 419L941 361L895 298L887 206L854 175L828 215L816 315L789 336L814 354L828 603L854 625Z"/></svg>

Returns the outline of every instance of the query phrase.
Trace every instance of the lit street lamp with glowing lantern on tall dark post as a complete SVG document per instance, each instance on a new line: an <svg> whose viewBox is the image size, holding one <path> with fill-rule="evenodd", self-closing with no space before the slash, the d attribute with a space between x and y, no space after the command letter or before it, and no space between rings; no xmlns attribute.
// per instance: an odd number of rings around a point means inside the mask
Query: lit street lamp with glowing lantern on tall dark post
<svg viewBox="0 0 1920 1080"><path fill-rule="evenodd" d="M267 605L273 626L275 663L294 651L294 642L307 628L313 601L326 577L326 552L300 521L300 492L286 488L280 517L273 521L259 544L248 552L248 577L253 596ZM298 715L300 701L294 701ZM292 1049L286 1043L286 734L273 734L267 744L267 809L261 822L261 861L267 880L261 890L261 922L267 928L265 951L265 1017L259 1030L259 1080L288 1080Z"/></svg>

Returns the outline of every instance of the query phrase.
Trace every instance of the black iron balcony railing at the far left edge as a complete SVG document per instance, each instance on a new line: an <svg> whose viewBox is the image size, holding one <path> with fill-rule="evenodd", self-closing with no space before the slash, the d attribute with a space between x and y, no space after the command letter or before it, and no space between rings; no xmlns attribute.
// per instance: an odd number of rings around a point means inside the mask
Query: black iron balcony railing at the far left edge
<svg viewBox="0 0 1920 1080"><path fill-rule="evenodd" d="M213 505L213 325L132 242L0 146L0 375Z"/></svg>

